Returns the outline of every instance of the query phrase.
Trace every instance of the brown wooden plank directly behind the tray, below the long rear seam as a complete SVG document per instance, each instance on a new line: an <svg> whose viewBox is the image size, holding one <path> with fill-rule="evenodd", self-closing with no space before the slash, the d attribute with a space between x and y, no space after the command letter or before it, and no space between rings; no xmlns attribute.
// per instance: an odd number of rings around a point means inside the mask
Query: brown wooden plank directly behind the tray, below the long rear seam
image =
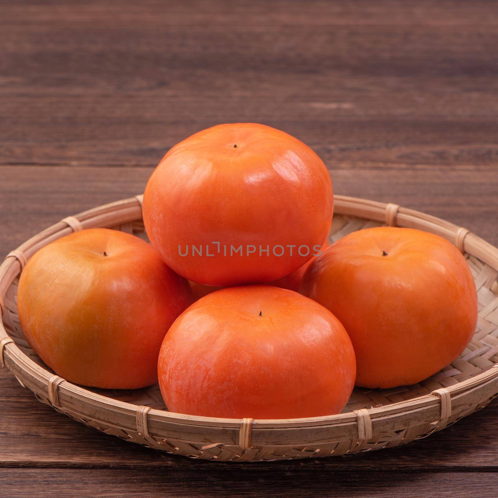
<svg viewBox="0 0 498 498"><path fill-rule="evenodd" d="M72 215L143 192L152 168L0 166L0 255ZM498 245L498 174L479 168L331 169L336 194L395 202Z"/></svg>

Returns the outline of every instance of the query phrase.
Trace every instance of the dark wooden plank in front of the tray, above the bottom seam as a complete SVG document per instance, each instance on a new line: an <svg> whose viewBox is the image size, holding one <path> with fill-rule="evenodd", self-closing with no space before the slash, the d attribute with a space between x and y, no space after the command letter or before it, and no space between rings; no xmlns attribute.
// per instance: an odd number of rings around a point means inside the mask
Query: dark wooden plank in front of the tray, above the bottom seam
<svg viewBox="0 0 498 498"><path fill-rule="evenodd" d="M282 474L335 470L357 472L487 471L498 472L498 401L421 441L368 453L323 459L239 465L167 455L102 434L36 401L8 372L0 374L0 476L2 468L121 468L157 472L233 471ZM0 484L1 488L1 484Z"/></svg>

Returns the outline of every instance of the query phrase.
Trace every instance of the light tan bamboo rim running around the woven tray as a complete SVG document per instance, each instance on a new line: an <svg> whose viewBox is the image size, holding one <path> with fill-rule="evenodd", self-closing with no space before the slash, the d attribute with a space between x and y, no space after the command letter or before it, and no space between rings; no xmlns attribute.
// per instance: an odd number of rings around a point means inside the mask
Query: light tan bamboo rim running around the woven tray
<svg viewBox="0 0 498 498"><path fill-rule="evenodd" d="M70 218L75 218L76 222L81 224L80 228L104 227L110 216L113 216L113 220L116 221L116 213L119 213L122 222L139 220L141 219L141 200L142 196L137 195L84 211ZM467 229L440 218L402 208L395 204L341 195L334 196L334 210L336 214L386 222L387 225L425 229L448 239L457 247L460 246L459 249L462 251L474 255L498 269L497 248L470 233ZM72 232L73 228L69 226L67 221L60 221L35 235L6 256L0 265L0 307L2 311L2 298L23 266L17 251L28 258L52 240ZM13 341L6 341L7 338L9 336L3 327L3 320L1 320L0 341L3 344L0 360L18 379L19 373L27 373L32 384L36 385L40 391L47 392L49 381L54 377L53 373L37 365ZM498 392L498 368L496 367L498 364L468 380L447 387L451 395L452 406L463 409L468 402L468 397L476 390L482 389L485 391L485 395L489 396L496 394ZM102 422L113 425L110 414L120 413L126 416L128 428L136 430L139 405L97 394L66 380L62 380L58 385L57 395L61 406L71 407L71 411L79 413L81 416L91 416L99 420L100 415ZM79 404L75 404L75 401ZM373 433L385 429L396 430L406 427L409 418L414 414L418 414L419 423L431 423L439 420L442 413L442 397L431 393L381 407L365 409L365 411L368 412L367 416L371 420ZM108 416L104 417L104 412ZM359 421L356 412L312 418L254 419L252 421L252 444L278 445L278 432L284 429L291 430L293 433L292 442L286 441L286 446L325 441L323 438L320 440L313 438L313 433L319 428L327 428L331 431L326 440L347 440L355 435L358 437ZM239 441L242 424L245 422L241 419L193 416L149 408L146 413L146 423L148 424L148 432L153 435L174 437L186 442L198 442L199 439L205 439L206 442L236 445ZM123 427L123 424L116 427ZM203 428L204 432L193 431L190 437L187 435L189 427Z"/></svg>

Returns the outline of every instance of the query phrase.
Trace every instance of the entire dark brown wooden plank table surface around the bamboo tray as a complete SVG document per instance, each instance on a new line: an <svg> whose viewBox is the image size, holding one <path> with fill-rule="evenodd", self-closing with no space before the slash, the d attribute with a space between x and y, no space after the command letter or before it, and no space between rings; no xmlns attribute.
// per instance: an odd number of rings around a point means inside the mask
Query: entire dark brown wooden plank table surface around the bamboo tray
<svg viewBox="0 0 498 498"><path fill-rule="evenodd" d="M143 190L222 122L296 135L335 192L498 244L498 9L490 1L0 1L0 253ZM498 494L498 402L428 439L321 460L168 456L0 375L0 497Z"/></svg>

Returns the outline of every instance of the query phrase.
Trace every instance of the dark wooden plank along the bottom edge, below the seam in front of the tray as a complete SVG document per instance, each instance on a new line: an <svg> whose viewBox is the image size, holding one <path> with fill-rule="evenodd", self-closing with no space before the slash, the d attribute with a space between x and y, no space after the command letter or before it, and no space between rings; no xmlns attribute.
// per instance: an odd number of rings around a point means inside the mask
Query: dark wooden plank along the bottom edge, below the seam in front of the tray
<svg viewBox="0 0 498 498"><path fill-rule="evenodd" d="M44 497L392 497L420 498L496 497L496 474L419 473L383 471L356 476L349 472L319 472L302 466L299 472L281 472L278 465L264 470L258 465L237 466L227 471L212 465L197 471L3 471L2 498L25 498L32 488Z"/></svg>

